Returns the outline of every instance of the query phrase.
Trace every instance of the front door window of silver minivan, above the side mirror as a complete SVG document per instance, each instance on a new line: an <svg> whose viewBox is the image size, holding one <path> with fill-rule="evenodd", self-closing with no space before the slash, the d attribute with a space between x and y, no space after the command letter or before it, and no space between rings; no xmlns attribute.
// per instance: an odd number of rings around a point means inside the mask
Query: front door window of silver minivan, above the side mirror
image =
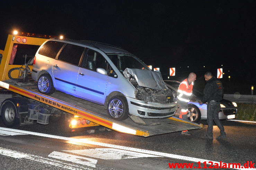
<svg viewBox="0 0 256 170"><path fill-rule="evenodd" d="M96 71L97 68L107 70L107 65L108 62L99 52L88 49L85 57L83 58L81 67Z"/></svg>

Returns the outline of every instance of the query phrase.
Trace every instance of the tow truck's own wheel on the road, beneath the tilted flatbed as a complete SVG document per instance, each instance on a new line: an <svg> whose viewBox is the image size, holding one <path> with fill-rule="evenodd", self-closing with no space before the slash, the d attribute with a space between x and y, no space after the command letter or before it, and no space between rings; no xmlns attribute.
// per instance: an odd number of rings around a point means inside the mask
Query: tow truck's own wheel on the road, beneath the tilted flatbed
<svg viewBox="0 0 256 170"><path fill-rule="evenodd" d="M17 118L17 110L14 103L6 101L2 105L1 117L3 124L7 127L16 127L19 125L19 119Z"/></svg>

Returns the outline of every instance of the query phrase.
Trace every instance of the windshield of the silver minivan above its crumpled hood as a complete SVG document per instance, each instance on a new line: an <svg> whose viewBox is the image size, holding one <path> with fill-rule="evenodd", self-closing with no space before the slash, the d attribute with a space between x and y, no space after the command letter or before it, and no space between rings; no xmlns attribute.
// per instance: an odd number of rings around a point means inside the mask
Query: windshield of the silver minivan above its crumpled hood
<svg viewBox="0 0 256 170"><path fill-rule="evenodd" d="M129 54L107 54L109 59L122 73L126 68L150 70L139 58Z"/></svg>

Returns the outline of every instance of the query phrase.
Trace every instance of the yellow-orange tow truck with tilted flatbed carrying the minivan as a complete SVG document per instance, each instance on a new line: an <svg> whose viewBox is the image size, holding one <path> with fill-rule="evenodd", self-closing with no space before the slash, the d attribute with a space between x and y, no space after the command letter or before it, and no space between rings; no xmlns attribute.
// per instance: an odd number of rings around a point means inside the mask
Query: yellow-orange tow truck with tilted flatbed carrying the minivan
<svg viewBox="0 0 256 170"><path fill-rule="evenodd" d="M17 32L16 32L17 33ZM165 119L128 118L116 121L108 117L104 106L56 91L44 95L37 90L32 79L20 79L20 71L14 68L25 68L18 61L24 56L34 55L41 44L53 36L33 33L9 34L5 50L0 50L0 116L7 127L33 124L48 124L51 115L65 114L69 119L71 131L99 127L118 132L148 137L182 130L201 129L202 124L193 123L176 117ZM27 54L29 53L29 54ZM30 60L31 61L31 60ZM26 63L26 62L25 62ZM29 66L27 75L33 66ZM15 70L10 73L10 70ZM9 75L8 75L9 74ZM10 77L14 79L10 79ZM144 122L141 124L140 121Z"/></svg>

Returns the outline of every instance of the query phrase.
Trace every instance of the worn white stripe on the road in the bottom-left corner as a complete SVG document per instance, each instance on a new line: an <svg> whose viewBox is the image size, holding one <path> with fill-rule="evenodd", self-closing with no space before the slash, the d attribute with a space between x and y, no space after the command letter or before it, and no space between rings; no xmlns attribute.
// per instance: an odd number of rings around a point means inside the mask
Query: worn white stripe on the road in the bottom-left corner
<svg viewBox="0 0 256 170"><path fill-rule="evenodd" d="M44 158L41 156L37 156L37 155L33 155L33 154L27 154L27 153L23 153L23 152L18 152L15 150L11 150L11 149L5 149L0 147L0 155L5 155L8 157L12 157L12 158L17 158L17 159L28 159L31 161L37 161L43 164L49 164L61 169L70 169L70 170L92 170L91 168L87 168L84 166L78 166L76 164L72 164L72 163L64 163L62 161L59 160L54 160L54 159L49 159L49 158Z"/></svg>

